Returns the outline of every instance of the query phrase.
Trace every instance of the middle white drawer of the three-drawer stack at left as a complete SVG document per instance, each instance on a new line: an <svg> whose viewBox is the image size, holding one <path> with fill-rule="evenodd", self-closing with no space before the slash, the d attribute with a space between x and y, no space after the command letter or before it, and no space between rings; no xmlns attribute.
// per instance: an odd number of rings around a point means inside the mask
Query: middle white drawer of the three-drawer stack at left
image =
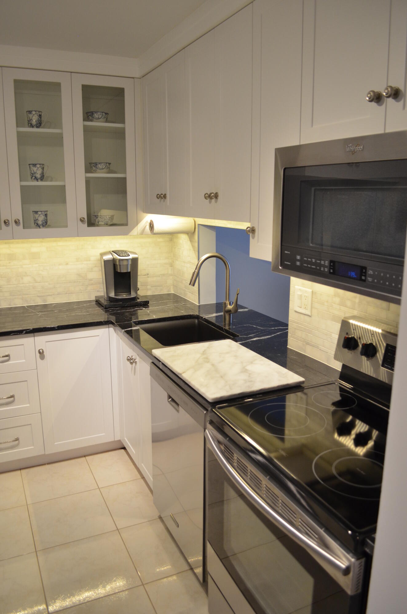
<svg viewBox="0 0 407 614"><path fill-rule="evenodd" d="M37 371L0 375L0 419L41 412Z"/></svg>

